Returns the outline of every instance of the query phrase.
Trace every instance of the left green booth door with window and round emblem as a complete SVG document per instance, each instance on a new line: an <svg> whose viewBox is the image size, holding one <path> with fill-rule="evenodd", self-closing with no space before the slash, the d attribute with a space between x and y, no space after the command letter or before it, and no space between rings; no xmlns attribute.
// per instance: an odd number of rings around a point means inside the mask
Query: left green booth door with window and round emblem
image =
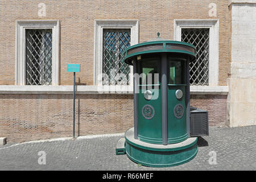
<svg viewBox="0 0 256 182"><path fill-rule="evenodd" d="M159 70L160 56L142 56L142 59L138 60L138 139L156 144L162 143Z"/></svg>

